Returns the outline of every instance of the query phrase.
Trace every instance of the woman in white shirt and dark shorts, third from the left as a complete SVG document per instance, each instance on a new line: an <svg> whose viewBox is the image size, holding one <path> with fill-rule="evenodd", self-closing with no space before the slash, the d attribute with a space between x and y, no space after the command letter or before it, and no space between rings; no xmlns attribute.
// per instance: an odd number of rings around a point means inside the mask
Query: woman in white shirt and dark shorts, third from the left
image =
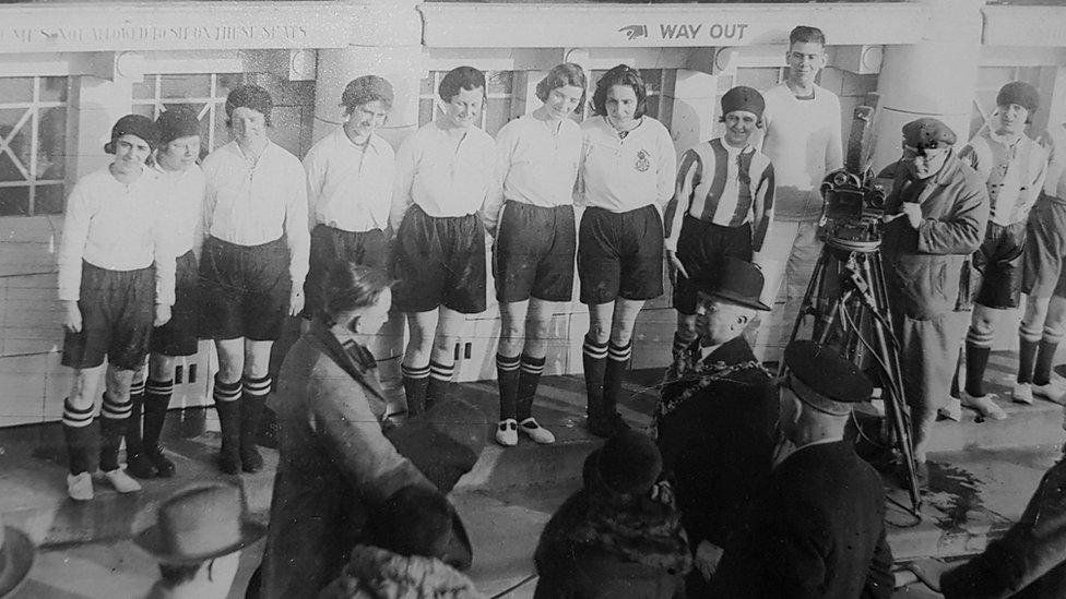
<svg viewBox="0 0 1066 599"><path fill-rule="evenodd" d="M201 323L215 340L213 398L218 467L257 472L259 418L270 393L270 350L285 318L304 309L307 180L296 156L266 137L273 100L257 85L226 98L234 141L203 161L208 178L200 259Z"/></svg>

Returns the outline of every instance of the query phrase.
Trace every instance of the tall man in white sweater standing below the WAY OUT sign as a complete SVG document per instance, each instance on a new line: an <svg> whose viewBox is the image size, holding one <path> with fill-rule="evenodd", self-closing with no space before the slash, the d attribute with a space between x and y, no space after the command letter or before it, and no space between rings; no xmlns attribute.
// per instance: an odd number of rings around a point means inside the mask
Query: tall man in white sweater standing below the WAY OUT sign
<svg viewBox="0 0 1066 599"><path fill-rule="evenodd" d="M827 61L826 36L815 27L795 27L785 61L785 82L762 94L762 152L773 164L777 185L773 236L762 250L768 303L782 283L783 301L803 297L821 252L819 185L827 172L843 166L840 98L815 83ZM790 312L781 316L785 322L795 315Z"/></svg>

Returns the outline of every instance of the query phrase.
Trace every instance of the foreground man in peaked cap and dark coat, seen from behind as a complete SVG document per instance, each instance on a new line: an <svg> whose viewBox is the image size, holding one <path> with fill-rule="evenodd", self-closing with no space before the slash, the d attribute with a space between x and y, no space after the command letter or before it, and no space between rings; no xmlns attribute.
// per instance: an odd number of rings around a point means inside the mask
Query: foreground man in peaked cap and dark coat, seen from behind
<svg viewBox="0 0 1066 599"><path fill-rule="evenodd" d="M784 360L773 470L725 548L712 596L888 598L885 490L844 441L852 404L867 400L873 385L815 342L789 344Z"/></svg>

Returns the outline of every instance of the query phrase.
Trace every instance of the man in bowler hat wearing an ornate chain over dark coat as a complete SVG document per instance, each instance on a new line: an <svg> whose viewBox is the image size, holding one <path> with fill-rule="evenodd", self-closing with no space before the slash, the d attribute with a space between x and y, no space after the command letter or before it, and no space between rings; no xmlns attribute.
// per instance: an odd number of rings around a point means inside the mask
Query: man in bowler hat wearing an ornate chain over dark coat
<svg viewBox="0 0 1066 599"><path fill-rule="evenodd" d="M777 392L742 333L758 311L762 273L725 259L715 280L698 281L699 338L667 369L655 407L664 472L675 490L692 550L724 547L770 475ZM704 547L701 547L704 546ZM700 592L701 573L689 575Z"/></svg>

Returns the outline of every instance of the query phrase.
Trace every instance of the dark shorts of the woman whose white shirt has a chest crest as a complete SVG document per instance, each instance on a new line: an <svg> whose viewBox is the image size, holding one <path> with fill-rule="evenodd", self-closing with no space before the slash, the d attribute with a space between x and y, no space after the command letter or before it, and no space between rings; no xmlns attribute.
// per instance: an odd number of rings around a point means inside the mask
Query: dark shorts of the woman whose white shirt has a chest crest
<svg viewBox="0 0 1066 599"><path fill-rule="evenodd" d="M663 218L649 204L623 213L590 207L578 235L581 303L663 295Z"/></svg>

